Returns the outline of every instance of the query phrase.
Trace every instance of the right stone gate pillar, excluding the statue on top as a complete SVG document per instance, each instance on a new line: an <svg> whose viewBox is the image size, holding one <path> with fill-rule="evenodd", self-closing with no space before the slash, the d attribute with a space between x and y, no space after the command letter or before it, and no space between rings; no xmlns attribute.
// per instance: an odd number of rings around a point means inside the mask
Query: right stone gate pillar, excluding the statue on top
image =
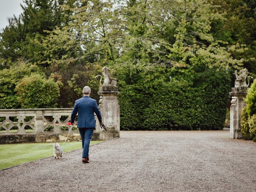
<svg viewBox="0 0 256 192"><path fill-rule="evenodd" d="M242 109L246 106L247 87L233 87L229 93L232 96L230 106L230 138L242 139L240 116Z"/></svg>

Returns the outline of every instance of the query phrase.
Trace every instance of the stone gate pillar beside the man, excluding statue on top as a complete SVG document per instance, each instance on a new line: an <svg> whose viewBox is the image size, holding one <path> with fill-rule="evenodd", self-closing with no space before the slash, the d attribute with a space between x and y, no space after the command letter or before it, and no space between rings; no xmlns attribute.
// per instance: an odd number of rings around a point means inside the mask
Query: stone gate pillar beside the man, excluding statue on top
<svg viewBox="0 0 256 192"><path fill-rule="evenodd" d="M102 86L99 88L98 94L101 96L99 102L102 122L106 126L107 132L104 129L99 129L100 140L108 140L120 136L120 108L118 104L118 87ZM96 124L99 127L99 124Z"/></svg>

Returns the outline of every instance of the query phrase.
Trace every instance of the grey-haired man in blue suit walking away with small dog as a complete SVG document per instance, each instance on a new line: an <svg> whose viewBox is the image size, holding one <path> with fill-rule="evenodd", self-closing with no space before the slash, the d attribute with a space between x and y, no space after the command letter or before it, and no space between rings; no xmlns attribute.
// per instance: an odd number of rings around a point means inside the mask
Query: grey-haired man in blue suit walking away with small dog
<svg viewBox="0 0 256 192"><path fill-rule="evenodd" d="M83 89L83 94L84 96L75 102L71 113L71 124L74 124L75 117L78 112L77 127L79 128L79 132L82 138L82 162L89 163L89 145L93 130L95 128L94 112L96 113L100 124L102 123L102 118L96 100L90 98L90 87L85 86Z"/></svg>

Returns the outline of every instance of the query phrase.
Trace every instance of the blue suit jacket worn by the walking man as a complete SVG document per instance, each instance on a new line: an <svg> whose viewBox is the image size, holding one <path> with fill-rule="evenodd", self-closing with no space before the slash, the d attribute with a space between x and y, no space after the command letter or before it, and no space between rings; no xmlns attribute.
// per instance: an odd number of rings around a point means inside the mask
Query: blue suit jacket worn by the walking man
<svg viewBox="0 0 256 192"><path fill-rule="evenodd" d="M94 112L96 113L98 120L102 122L100 110L97 106L96 100L90 98L89 96L83 96L82 98L76 100L71 113L71 123L74 123L77 112L78 128L95 128Z"/></svg>

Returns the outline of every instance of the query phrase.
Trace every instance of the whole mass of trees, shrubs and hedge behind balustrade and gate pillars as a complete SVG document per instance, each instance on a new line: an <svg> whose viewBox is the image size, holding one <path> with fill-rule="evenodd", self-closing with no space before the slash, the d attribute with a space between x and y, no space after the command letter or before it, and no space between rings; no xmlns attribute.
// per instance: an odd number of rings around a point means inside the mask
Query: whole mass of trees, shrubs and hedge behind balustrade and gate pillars
<svg viewBox="0 0 256 192"><path fill-rule="evenodd" d="M72 107L84 85L97 99L94 76L108 66L122 129L220 129L233 71L256 72L251 1L24 0L22 9L0 33L0 108Z"/></svg>

